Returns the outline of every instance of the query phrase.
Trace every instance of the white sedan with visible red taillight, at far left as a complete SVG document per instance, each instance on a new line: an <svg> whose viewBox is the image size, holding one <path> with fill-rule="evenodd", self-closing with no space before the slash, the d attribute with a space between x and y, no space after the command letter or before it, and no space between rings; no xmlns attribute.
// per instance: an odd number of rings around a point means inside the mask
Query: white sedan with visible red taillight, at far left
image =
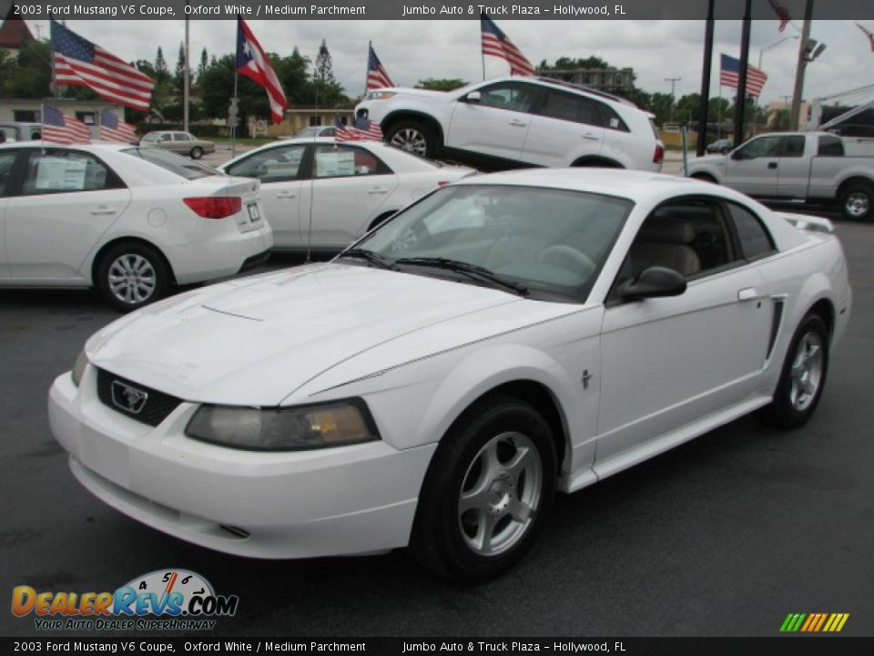
<svg viewBox="0 0 874 656"><path fill-rule="evenodd" d="M96 287L122 311L269 257L259 182L136 146L0 146L0 287Z"/></svg>

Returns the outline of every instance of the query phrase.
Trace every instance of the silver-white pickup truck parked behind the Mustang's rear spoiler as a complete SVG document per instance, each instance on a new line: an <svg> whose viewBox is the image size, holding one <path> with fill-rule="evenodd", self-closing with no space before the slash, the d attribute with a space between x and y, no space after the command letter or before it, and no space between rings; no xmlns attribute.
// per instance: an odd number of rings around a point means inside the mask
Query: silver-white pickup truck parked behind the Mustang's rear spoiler
<svg viewBox="0 0 874 656"><path fill-rule="evenodd" d="M726 155L690 160L686 175L760 200L837 200L848 219L871 219L874 140L840 138L828 132L764 134Z"/></svg>

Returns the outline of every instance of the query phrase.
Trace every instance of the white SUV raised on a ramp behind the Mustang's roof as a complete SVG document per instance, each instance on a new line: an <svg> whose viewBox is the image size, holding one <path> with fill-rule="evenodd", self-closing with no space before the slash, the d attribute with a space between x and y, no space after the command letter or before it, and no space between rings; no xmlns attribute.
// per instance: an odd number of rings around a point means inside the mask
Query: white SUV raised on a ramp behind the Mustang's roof
<svg viewBox="0 0 874 656"><path fill-rule="evenodd" d="M594 166L659 171L651 115L627 100L544 77L502 77L449 93L389 87L355 108L391 145L492 168Z"/></svg>

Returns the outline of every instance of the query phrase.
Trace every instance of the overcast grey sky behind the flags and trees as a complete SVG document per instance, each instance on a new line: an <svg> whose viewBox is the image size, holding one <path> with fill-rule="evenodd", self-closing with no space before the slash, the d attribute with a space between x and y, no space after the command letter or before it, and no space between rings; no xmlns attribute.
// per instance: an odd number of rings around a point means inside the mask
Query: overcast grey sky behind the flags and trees
<svg viewBox="0 0 874 656"><path fill-rule="evenodd" d="M676 96L700 87L703 21L497 21L507 36L534 65L559 56L600 56L616 67L633 67L637 85L645 90L669 92L666 77L681 77ZM46 21L28 21L46 36ZM864 23L864 22L863 22ZM874 23L868 22L874 29ZM67 26L125 59L155 58L164 48L168 65L176 62L184 22L71 20ZM156 27L159 29L156 30ZM412 86L425 77L483 78L479 21L251 21L265 48L285 55L294 46L303 55L315 57L326 39L333 59L334 75L347 94L358 96L364 87L367 42L371 40L383 66L395 84ZM800 23L777 32L776 20L754 21L749 61L758 63L762 48L787 36L797 36ZM740 22L716 22L716 46L712 95L718 93L718 53L739 56ZM206 46L210 55L235 47L234 21L192 20L192 60ZM825 96L862 85L874 84L874 53L868 39L851 21L814 22L811 37L827 49L808 66L805 97ZM762 59L768 76L762 99L783 100L792 93L799 39L769 49ZM192 65L193 66L193 65ZM486 76L507 73L499 59L486 57ZM730 97L728 90L725 95Z"/></svg>

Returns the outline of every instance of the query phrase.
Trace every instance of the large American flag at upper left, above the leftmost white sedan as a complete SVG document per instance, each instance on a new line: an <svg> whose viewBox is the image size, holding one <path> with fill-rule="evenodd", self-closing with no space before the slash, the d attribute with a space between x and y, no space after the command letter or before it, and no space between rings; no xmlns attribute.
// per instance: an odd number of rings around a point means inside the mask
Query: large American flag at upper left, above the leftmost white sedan
<svg viewBox="0 0 874 656"><path fill-rule="evenodd" d="M147 110L155 81L102 47L52 21L55 84L88 87L100 97Z"/></svg>

